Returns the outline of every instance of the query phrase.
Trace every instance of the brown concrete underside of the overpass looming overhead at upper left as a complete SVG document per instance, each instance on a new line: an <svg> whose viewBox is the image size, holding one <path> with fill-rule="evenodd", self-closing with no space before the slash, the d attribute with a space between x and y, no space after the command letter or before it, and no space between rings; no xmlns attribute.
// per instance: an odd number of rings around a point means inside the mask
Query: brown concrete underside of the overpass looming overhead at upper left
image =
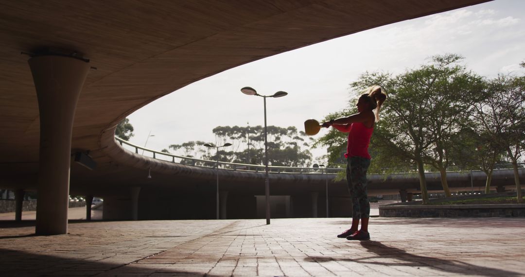
<svg viewBox="0 0 525 277"><path fill-rule="evenodd" d="M38 104L28 57L20 52L76 50L97 68L82 88L72 148L90 151L98 166L88 171L75 165L70 188L72 194L97 195L146 183L148 168L124 165L108 152L116 124L151 101L250 61L482 2L487 1L3 1L0 187L36 188ZM191 175L173 182L188 182ZM213 181L213 174L206 175L206 183ZM147 182L155 179L160 178Z"/></svg>

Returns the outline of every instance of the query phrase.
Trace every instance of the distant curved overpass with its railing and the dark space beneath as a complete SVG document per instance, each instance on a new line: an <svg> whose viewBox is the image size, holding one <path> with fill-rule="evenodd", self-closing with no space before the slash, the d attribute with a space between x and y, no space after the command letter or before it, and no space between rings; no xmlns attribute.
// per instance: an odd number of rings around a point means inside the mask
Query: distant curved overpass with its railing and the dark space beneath
<svg viewBox="0 0 525 277"><path fill-rule="evenodd" d="M104 219L215 218L216 174L219 175L220 218L263 218L265 167L188 158L150 150L116 138L108 155L135 168L130 184L104 195ZM183 163L183 164L181 164ZM136 170L142 169L142 170ZM147 169L147 170L146 170ZM350 196L345 180L336 181L343 168L301 168L270 166L272 217L350 217ZM326 171L328 170L328 174ZM525 168L519 169L525 183ZM425 174L430 193L442 193L441 176ZM149 178L151 177L151 178ZM484 191L486 175L481 171L448 172L451 191ZM416 173L370 174L370 196L421 193ZM513 169L498 169L492 176L492 189L513 189ZM126 192L129 191L129 194ZM133 204L136 203L136 204ZM328 203L328 205L327 205Z"/></svg>

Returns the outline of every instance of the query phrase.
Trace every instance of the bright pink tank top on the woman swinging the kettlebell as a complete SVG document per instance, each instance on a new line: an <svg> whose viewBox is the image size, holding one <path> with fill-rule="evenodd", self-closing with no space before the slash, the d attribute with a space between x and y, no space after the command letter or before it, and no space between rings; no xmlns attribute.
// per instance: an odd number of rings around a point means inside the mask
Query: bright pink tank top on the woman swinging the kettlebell
<svg viewBox="0 0 525 277"><path fill-rule="evenodd" d="M363 157L370 159L368 153L368 146L370 138L374 132L374 127L366 127L363 123L352 123L350 132L348 133L348 147L346 147L346 154L344 157Z"/></svg>

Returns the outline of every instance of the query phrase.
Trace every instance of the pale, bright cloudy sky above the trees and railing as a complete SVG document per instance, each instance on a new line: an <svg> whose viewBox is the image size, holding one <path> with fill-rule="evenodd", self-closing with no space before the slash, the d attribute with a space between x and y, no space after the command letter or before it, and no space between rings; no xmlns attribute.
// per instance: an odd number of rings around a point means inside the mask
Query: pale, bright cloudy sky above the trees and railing
<svg viewBox="0 0 525 277"><path fill-rule="evenodd" d="M264 125L261 97L245 95L286 91L267 98L267 123L304 129L307 119L348 108L349 84L365 71L400 74L430 56L463 56L468 69L487 78L523 74L525 1L495 0L394 23L250 62L192 83L128 116L131 143L153 150L187 141L215 143L216 126ZM191 103L191 104L186 104ZM385 102L385 104L387 104ZM321 130L313 136L321 137ZM149 134L153 136L148 136ZM147 144L146 144L147 141ZM227 148L225 149L227 150ZM314 161L327 153L312 148Z"/></svg>

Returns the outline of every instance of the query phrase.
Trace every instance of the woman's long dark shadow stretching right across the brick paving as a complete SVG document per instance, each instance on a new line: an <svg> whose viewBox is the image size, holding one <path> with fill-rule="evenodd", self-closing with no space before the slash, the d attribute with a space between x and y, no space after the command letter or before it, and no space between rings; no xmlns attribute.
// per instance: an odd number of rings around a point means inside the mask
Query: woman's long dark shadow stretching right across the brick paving
<svg viewBox="0 0 525 277"><path fill-rule="evenodd" d="M367 252L374 253L372 257L362 258L330 258L328 256L321 257L308 257L305 261L310 262L329 262L329 261L352 261L359 263L367 263L374 265L384 265L386 267L412 267L412 268L431 268L433 270L439 270L443 272L450 272L455 274L475 274L480 276L522 276L522 274L512 271L506 271L501 269L493 269L488 267L481 267L479 265L469 264L460 261L444 260L433 257L425 257L416 254L411 254L403 249L386 246L379 241L360 241L361 246L367 250ZM381 261L378 259L385 259ZM368 261L372 259L371 261ZM398 261L392 261L393 259ZM422 271L424 274L424 271ZM428 272L429 273L429 272Z"/></svg>

